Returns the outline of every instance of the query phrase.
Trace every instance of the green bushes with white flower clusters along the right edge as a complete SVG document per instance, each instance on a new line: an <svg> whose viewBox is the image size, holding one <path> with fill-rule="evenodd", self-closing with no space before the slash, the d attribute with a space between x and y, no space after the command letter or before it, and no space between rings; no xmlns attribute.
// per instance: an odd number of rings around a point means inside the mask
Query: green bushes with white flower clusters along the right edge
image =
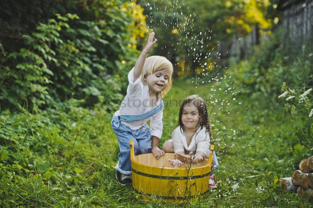
<svg viewBox="0 0 313 208"><path fill-rule="evenodd" d="M231 66L228 72L234 78L241 100L248 102L247 109L254 111L248 116L253 124L258 125L262 115L279 122L275 135L290 147L288 152L296 165L301 158L311 154L313 145L312 119L309 117L312 93L301 98L313 84L313 56L306 53L303 46L296 61L290 63L289 57L281 56L280 34L281 31L272 33L267 41L255 47L250 60ZM288 100L283 103L282 97Z"/></svg>

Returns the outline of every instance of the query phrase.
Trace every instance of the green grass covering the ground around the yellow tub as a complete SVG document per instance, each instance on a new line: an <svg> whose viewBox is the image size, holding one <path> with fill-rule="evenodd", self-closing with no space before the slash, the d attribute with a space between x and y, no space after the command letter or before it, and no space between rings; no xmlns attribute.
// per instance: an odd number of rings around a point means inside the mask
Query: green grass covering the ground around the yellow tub
<svg viewBox="0 0 313 208"><path fill-rule="evenodd" d="M208 111L220 162L215 171L219 187L202 200L180 205L145 201L131 185L119 185L113 168L118 153L110 127L113 111L93 109L94 115L70 100L37 114L1 112L0 206L312 207L312 200L275 185L312 154L311 140L301 138L308 135L306 124L262 94L248 96L249 89L234 89L232 78L202 80L199 85L195 79L175 81L165 97L180 100L198 94L212 101ZM178 110L164 109L160 147L170 139Z"/></svg>

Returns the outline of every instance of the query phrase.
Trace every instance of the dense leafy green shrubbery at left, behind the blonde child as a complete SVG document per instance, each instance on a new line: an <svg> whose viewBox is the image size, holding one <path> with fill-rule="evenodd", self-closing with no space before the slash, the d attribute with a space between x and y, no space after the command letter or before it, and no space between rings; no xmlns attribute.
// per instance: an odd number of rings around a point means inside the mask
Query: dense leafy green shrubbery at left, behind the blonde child
<svg viewBox="0 0 313 208"><path fill-rule="evenodd" d="M35 29L21 26L21 49L11 52L4 39L0 43L1 108L36 110L71 97L94 105L122 97L136 42L146 32L140 6L120 0L46 4L48 21L41 16Z"/></svg>

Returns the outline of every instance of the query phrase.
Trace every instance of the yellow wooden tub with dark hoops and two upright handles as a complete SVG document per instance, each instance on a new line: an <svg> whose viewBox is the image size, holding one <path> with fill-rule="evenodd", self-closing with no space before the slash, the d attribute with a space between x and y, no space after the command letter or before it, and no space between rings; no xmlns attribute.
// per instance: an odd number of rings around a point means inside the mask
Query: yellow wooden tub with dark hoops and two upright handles
<svg viewBox="0 0 313 208"><path fill-rule="evenodd" d="M173 153L165 153L158 160L152 153L135 156L133 141L129 144L132 185L135 190L170 202L192 200L208 190L214 145L211 145L209 159L197 165L172 168L167 159L174 159Z"/></svg>

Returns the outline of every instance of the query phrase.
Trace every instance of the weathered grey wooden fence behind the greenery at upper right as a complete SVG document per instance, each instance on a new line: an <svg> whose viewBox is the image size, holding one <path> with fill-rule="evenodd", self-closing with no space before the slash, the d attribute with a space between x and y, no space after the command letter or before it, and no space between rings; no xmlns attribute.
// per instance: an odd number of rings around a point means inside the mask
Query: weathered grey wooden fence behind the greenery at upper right
<svg viewBox="0 0 313 208"><path fill-rule="evenodd" d="M282 10L280 52L286 62L291 63L303 53L313 53L313 0L294 1ZM229 58L235 62L249 59L254 54L254 46L268 39L268 35L260 34L259 30L256 25L246 37L234 36L231 42L221 42L217 49L221 59L216 59L216 62L222 65Z"/></svg>

